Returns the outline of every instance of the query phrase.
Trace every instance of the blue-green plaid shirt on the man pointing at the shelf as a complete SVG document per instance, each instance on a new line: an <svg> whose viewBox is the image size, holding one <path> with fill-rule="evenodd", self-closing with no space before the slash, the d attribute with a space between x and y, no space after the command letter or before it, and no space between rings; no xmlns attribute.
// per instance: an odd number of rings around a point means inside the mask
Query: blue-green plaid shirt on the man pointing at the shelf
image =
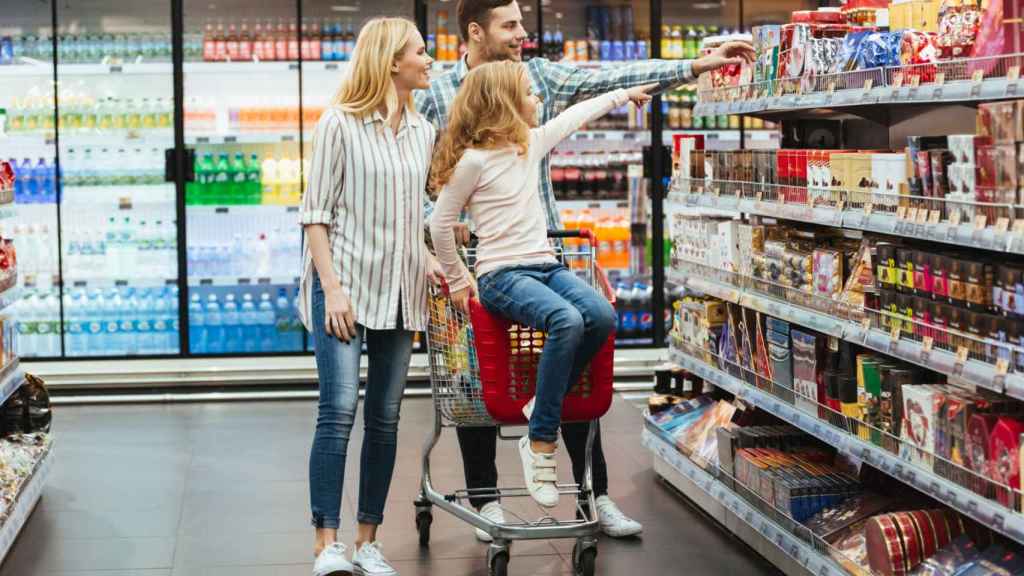
<svg viewBox="0 0 1024 576"><path fill-rule="evenodd" d="M534 93L541 96L541 124L546 124L573 104L601 95L618 88L632 88L644 84L658 84L659 90L693 80L692 60L646 60L631 65L586 70L574 65L553 63L547 58L532 58L526 70L534 85ZM469 74L466 56L449 72L430 82L430 88L416 92L416 106L438 131L447 125L452 101L459 86ZM551 184L551 161L541 164L541 199L548 218L548 230L560 230L561 216L555 189ZM427 207L429 216L431 208Z"/></svg>

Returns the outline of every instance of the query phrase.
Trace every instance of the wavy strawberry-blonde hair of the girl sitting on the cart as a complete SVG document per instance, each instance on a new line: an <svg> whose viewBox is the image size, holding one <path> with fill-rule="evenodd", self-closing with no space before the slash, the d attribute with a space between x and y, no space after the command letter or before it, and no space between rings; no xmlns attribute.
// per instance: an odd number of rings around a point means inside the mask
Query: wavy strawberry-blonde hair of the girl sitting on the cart
<svg viewBox="0 0 1024 576"><path fill-rule="evenodd" d="M430 169L430 190L437 195L466 149L496 150L518 147L526 153L529 125L519 113L526 97L526 68L514 61L496 61L474 68L466 75L452 102L447 128L441 136Z"/></svg>

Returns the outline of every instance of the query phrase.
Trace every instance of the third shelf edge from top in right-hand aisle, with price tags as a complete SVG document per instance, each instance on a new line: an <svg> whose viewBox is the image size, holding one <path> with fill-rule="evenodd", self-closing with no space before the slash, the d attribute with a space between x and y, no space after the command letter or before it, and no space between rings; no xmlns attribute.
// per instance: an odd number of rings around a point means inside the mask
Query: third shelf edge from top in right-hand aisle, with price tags
<svg viewBox="0 0 1024 576"><path fill-rule="evenodd" d="M892 332L880 329L883 325L883 317L886 316L883 313L863 310L839 312L839 306L837 306L831 314L826 314L794 304L752 288L716 280L716 276L721 274L723 274L722 271L701 264L683 263L674 266L668 277L670 281L685 285L696 292L811 328L978 387L1024 400L1024 374L1012 371L1014 364L1012 360L1009 363L1010 366L1000 366L1000 362L995 358L996 356L1006 356L1012 359L1015 355L1024 354L1024 351L1015 346L986 342L984 345L987 349L998 352L991 357L979 358L975 354L969 354L967 349L959 349L961 347L970 347L972 342L967 336L938 329L932 329L933 333L936 334L935 341L939 341L941 337L947 341L963 342L965 345L957 346L956 352L942 349L934 345L928 346L924 341L904 337L907 331L900 331L894 337ZM736 277L736 275L732 276ZM860 317L860 323L851 318L854 315ZM912 323L912 321L905 322ZM909 332L914 333L912 329Z"/></svg>

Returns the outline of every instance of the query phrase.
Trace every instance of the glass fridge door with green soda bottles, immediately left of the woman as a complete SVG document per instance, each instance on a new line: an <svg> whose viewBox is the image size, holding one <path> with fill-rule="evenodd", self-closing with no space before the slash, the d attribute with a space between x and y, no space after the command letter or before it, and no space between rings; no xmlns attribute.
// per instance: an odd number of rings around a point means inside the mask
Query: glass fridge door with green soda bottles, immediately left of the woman
<svg viewBox="0 0 1024 576"><path fill-rule="evenodd" d="M299 58L295 2L184 0L188 333L193 355L301 352ZM318 30L318 24L315 24ZM315 51L313 50L315 48Z"/></svg>

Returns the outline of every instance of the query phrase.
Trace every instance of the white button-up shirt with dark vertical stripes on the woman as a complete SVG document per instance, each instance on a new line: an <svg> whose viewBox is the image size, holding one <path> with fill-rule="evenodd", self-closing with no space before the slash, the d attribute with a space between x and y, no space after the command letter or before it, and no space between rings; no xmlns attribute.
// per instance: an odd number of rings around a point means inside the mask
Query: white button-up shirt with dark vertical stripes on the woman
<svg viewBox="0 0 1024 576"><path fill-rule="evenodd" d="M427 248L424 202L436 131L404 113L394 133L380 113L364 118L328 109L316 124L301 223L328 227L334 272L355 321L371 330L424 330ZM299 314L312 327L313 262L308 243ZM402 327L397 327L402 328Z"/></svg>

